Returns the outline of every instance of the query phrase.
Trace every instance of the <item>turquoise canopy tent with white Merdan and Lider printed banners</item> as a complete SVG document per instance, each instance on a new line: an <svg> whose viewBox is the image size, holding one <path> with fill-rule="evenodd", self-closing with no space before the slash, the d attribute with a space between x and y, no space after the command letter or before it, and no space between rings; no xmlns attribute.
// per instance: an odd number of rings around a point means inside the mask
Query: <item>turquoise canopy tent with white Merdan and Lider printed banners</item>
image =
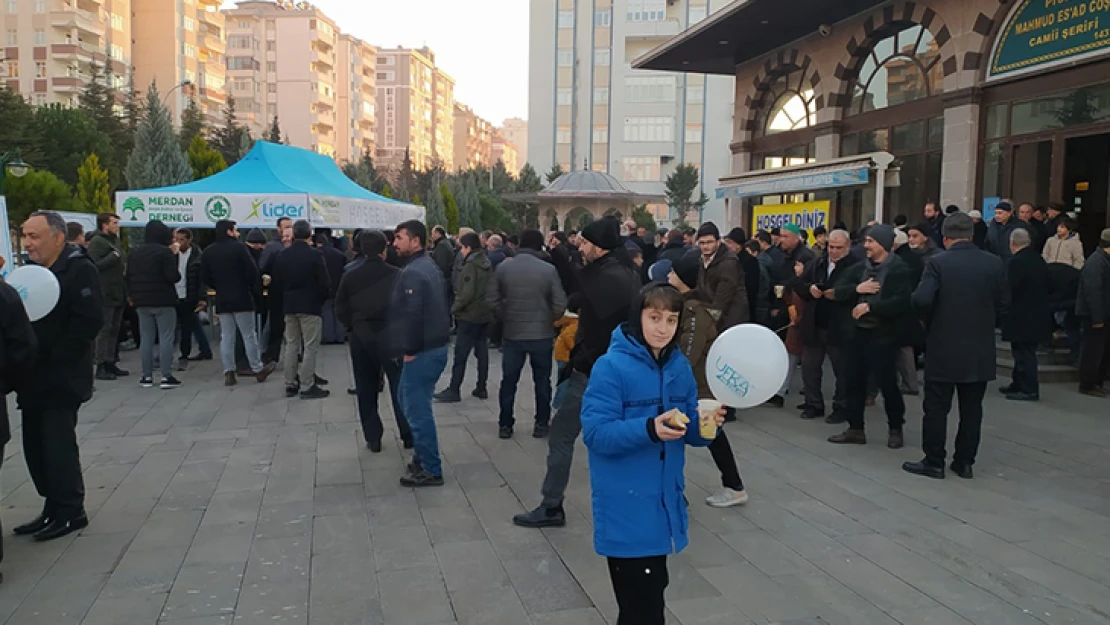
<svg viewBox="0 0 1110 625"><path fill-rule="evenodd" d="M281 218L317 228L389 229L424 220L424 208L384 198L355 184L335 162L300 148L256 141L234 165L195 182L121 191L121 225L160 220L170 226L212 228L224 219L241 228L273 228Z"/></svg>

